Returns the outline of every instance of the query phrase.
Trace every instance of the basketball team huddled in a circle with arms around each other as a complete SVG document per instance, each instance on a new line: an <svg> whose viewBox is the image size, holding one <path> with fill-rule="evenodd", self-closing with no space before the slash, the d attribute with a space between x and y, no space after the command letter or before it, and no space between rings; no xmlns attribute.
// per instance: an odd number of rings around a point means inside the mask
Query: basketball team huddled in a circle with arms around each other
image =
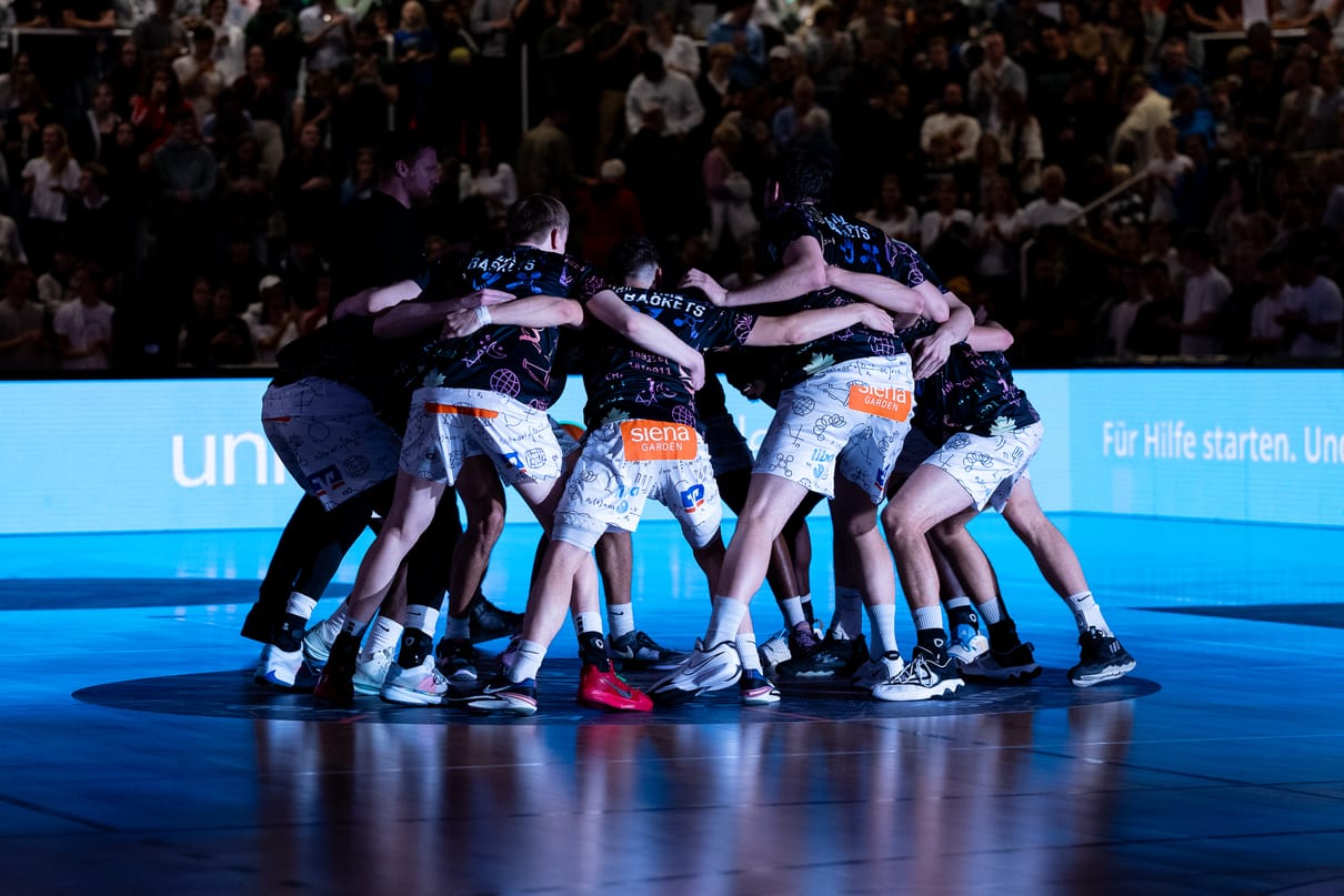
<svg viewBox="0 0 1344 896"><path fill-rule="evenodd" d="M380 269L282 353L266 392L267 437L306 494L243 627L266 645L258 681L343 707L376 695L528 716L567 613L578 701L613 711L732 685L743 704L767 705L790 678L841 678L892 701L949 697L966 678L1027 681L1040 672L1032 645L966 529L988 506L1074 614L1071 682L1134 668L1032 493L1043 426L1004 360L1011 336L977 322L911 247L827 212L828 163L777 161L762 232L773 273L730 292L696 270L661 283L656 247L637 236L594 270L564 254L569 215L543 195L509 211L507 247L427 281L405 220L434 185L433 159L386 150L368 247ZM547 414L569 380L562 329L582 333L582 433ZM754 457L724 408L720 361L775 408ZM521 618L480 592L505 485L544 531ZM805 523L821 498L836 572L824 630ZM630 533L650 500L680 524L712 599L684 654L634 626ZM738 514L728 544L724 504ZM351 594L309 625L375 514ZM898 578L917 630L909 653ZM747 604L763 582L785 631L758 646ZM512 641L487 669L473 643L501 635ZM641 690L618 668L663 674Z"/></svg>

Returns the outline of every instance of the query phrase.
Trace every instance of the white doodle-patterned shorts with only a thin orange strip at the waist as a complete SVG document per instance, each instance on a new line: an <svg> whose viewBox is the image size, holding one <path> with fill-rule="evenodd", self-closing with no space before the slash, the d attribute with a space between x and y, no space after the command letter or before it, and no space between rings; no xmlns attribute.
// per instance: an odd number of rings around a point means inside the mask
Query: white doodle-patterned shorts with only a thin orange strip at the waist
<svg viewBox="0 0 1344 896"><path fill-rule="evenodd" d="M507 485L556 480L563 462L546 411L487 390L415 390L401 467L453 485L470 457L488 457Z"/></svg>

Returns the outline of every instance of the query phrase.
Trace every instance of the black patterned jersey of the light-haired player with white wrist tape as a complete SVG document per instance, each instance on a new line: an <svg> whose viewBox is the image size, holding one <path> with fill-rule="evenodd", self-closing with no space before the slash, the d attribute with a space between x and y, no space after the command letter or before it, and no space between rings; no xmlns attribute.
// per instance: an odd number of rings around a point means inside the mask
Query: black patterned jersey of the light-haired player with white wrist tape
<svg viewBox="0 0 1344 896"><path fill-rule="evenodd" d="M460 292L497 289L528 296L578 297L593 277L583 262L530 246L473 255ZM453 292L453 290L449 290ZM489 390L544 411L564 388L555 369L555 326L484 326L462 339L439 340L425 353L425 386Z"/></svg>

